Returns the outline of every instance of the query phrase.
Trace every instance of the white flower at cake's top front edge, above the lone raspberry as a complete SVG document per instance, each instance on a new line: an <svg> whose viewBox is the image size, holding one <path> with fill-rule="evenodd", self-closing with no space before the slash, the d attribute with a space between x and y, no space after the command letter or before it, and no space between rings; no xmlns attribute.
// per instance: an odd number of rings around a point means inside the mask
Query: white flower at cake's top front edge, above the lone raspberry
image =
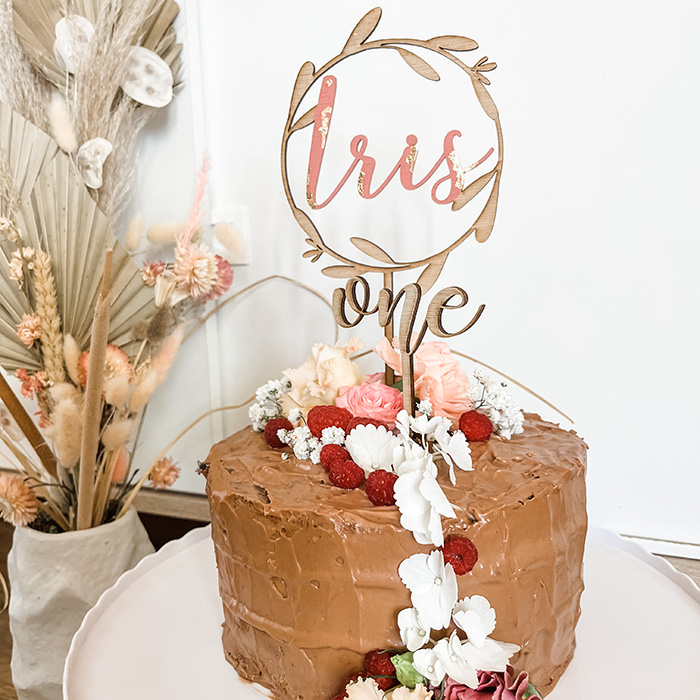
<svg viewBox="0 0 700 700"><path fill-rule="evenodd" d="M452 504L437 482L437 467L432 456L424 469L402 474L394 484L401 526L410 530L418 544L444 543L440 516L455 517Z"/></svg>

